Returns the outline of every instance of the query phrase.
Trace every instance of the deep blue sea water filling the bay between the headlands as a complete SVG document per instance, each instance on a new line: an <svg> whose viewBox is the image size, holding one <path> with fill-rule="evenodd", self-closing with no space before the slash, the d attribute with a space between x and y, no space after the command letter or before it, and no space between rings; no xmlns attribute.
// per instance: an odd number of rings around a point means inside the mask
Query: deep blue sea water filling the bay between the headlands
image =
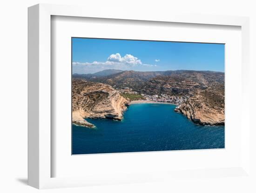
<svg viewBox="0 0 256 193"><path fill-rule="evenodd" d="M122 121L87 119L72 126L72 154L224 148L224 126L201 126L172 104L132 104Z"/></svg>

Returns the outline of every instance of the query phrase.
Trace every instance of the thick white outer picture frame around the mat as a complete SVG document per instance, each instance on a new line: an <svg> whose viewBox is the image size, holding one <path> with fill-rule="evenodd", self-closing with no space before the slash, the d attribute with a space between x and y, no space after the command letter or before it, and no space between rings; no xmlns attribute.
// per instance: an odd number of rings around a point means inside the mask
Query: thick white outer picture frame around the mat
<svg viewBox="0 0 256 193"><path fill-rule="evenodd" d="M111 13L111 14L110 14ZM165 178L189 176L191 172L176 171L172 173L156 172L154 175L130 174L129 176L109 176L103 174L87 177L53 178L51 168L51 16L72 16L105 19L129 19L155 22L178 22L204 25L241 26L242 29L242 90L243 99L249 98L249 18L216 15L184 15L149 13L130 14L129 12L100 12L81 6L62 6L38 4L28 8L28 185L36 188L77 187L97 184L116 184L130 182L150 182ZM241 165L205 170L195 170L193 175L223 177L221 174L249 174L249 100L243 100L241 118Z"/></svg>

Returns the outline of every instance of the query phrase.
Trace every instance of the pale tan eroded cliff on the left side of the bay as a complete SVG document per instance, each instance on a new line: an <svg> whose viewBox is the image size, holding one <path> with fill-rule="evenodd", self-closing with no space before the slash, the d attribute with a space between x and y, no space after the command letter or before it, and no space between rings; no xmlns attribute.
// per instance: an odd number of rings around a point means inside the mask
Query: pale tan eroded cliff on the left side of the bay
<svg viewBox="0 0 256 193"><path fill-rule="evenodd" d="M111 86L87 82L82 79L72 81L72 122L93 128L84 118L110 118L121 120L128 101Z"/></svg>

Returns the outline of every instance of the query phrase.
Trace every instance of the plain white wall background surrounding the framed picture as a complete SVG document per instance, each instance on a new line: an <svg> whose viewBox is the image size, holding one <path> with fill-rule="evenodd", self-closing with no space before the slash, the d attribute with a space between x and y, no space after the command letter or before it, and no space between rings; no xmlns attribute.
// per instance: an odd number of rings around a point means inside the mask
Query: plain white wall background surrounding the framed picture
<svg viewBox="0 0 256 193"><path fill-rule="evenodd" d="M108 9L128 9L133 12L150 11L238 15L250 17L251 99L256 89L256 5L254 0L2 0L0 3L0 192L37 192L27 183L27 7L37 3L75 4ZM251 124L256 105L251 103ZM251 132L252 171L256 174L256 131ZM256 178L212 178L180 180L118 186L80 187L43 190L58 192L256 192Z"/></svg>

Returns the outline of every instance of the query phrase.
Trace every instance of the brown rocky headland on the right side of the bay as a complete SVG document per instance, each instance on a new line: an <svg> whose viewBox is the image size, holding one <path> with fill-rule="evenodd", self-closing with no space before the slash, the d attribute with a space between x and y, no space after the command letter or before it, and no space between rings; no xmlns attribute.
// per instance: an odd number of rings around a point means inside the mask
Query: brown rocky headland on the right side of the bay
<svg viewBox="0 0 256 193"><path fill-rule="evenodd" d="M198 91L175 111L201 125L224 125L224 87L217 85Z"/></svg>

